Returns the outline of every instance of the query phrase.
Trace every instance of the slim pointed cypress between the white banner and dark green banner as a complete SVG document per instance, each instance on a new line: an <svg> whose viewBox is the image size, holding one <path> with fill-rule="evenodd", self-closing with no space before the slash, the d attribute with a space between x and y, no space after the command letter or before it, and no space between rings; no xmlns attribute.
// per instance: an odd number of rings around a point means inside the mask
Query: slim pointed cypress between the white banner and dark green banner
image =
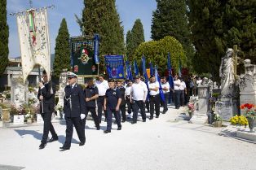
<svg viewBox="0 0 256 170"><path fill-rule="evenodd" d="M69 33L65 19L61 21L58 36L55 40L55 61L53 63L55 79L60 78L60 73L64 68L70 68L70 50L69 50Z"/></svg>

